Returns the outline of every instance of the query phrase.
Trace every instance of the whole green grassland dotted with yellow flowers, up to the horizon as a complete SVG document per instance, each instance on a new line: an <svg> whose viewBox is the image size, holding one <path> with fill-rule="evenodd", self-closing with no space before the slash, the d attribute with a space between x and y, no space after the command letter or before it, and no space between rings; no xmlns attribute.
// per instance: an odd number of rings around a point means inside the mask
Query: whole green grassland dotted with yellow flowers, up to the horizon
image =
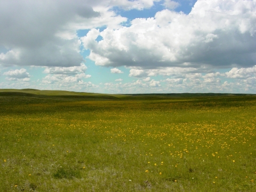
<svg viewBox="0 0 256 192"><path fill-rule="evenodd" d="M0 89L0 191L256 191L256 96Z"/></svg>

